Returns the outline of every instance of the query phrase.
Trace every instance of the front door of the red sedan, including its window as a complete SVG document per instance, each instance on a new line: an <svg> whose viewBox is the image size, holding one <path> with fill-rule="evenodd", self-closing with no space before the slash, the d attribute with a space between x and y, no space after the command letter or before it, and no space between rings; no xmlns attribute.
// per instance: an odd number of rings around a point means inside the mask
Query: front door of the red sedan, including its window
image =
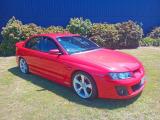
<svg viewBox="0 0 160 120"><path fill-rule="evenodd" d="M64 69L65 66L62 62L63 55L50 54L50 50L58 49L60 51L59 46L56 42L49 37L43 37L39 43L39 57L40 61L38 65L41 67L41 71L45 74L49 79L57 82L64 82L65 74Z"/></svg>

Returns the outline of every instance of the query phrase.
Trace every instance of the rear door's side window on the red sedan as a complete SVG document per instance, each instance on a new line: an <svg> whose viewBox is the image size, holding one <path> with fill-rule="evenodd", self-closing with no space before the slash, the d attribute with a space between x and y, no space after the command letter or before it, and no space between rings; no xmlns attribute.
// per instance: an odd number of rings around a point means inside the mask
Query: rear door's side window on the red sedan
<svg viewBox="0 0 160 120"><path fill-rule="evenodd" d="M31 38L27 43L26 43L26 48L32 49L32 50L40 50L39 44L40 44L41 37L34 37Z"/></svg>

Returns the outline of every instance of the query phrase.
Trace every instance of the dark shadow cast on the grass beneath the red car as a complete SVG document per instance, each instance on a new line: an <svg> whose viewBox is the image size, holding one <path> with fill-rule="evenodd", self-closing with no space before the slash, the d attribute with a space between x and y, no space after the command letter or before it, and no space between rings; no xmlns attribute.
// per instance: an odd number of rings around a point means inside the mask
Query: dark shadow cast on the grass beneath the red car
<svg viewBox="0 0 160 120"><path fill-rule="evenodd" d="M34 85L40 86L42 89L37 90L41 92L44 90L51 91L71 102L85 105L88 107L96 107L102 109L116 109L121 107L126 107L136 101L141 94L138 96L128 99L128 100L113 100L113 99L94 99L94 100L84 100L78 97L71 88L64 87L45 78L33 75L33 74L23 74L19 71L18 67L13 67L8 69L12 74L22 78L23 80L29 81Z"/></svg>

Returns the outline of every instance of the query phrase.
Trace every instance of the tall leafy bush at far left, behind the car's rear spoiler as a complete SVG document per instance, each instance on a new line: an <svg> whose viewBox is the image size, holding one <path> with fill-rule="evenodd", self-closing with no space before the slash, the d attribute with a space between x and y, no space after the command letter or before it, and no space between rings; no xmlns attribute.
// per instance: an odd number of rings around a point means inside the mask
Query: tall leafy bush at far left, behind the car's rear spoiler
<svg viewBox="0 0 160 120"><path fill-rule="evenodd" d="M0 45L0 55L13 55L15 52L15 43L20 41L22 35L22 22L12 17L6 27L2 28L1 35L3 41Z"/></svg>

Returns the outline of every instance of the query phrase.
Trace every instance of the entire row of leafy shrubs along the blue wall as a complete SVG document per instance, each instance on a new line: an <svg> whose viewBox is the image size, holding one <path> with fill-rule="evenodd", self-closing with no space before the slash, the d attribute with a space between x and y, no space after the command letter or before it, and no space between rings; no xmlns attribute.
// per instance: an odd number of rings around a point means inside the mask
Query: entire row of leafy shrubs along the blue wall
<svg viewBox="0 0 160 120"><path fill-rule="evenodd" d="M36 24L22 24L21 21L12 17L7 25L2 28L1 35L3 37L0 45L0 55L15 54L15 43L25 40L31 35L41 33L59 33L71 32L89 37L97 44L107 48L135 48L139 46L139 40L142 39L143 30L140 25L133 21L122 22L117 24L92 24L89 19L71 18L66 29L61 26L50 26L43 28ZM160 28L156 28L150 33L151 38L159 38ZM146 38L141 43L146 42L150 45L151 42ZM153 45L159 45L159 39L153 42Z"/></svg>

